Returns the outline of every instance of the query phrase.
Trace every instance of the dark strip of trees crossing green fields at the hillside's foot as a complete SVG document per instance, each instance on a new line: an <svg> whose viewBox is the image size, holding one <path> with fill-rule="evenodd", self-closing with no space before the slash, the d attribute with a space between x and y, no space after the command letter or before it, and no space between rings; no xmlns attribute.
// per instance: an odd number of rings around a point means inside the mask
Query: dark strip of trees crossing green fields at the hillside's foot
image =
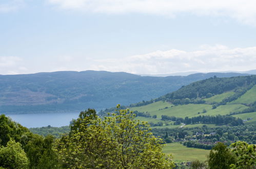
<svg viewBox="0 0 256 169"><path fill-rule="evenodd" d="M235 118L229 115L217 115L217 116L196 116L196 117L181 117L162 115L162 120L175 121L175 124L185 123L185 124L195 124L195 123L205 123L205 124L216 124L216 125L226 125L230 124L233 126L244 125L243 120L240 118Z"/></svg>

